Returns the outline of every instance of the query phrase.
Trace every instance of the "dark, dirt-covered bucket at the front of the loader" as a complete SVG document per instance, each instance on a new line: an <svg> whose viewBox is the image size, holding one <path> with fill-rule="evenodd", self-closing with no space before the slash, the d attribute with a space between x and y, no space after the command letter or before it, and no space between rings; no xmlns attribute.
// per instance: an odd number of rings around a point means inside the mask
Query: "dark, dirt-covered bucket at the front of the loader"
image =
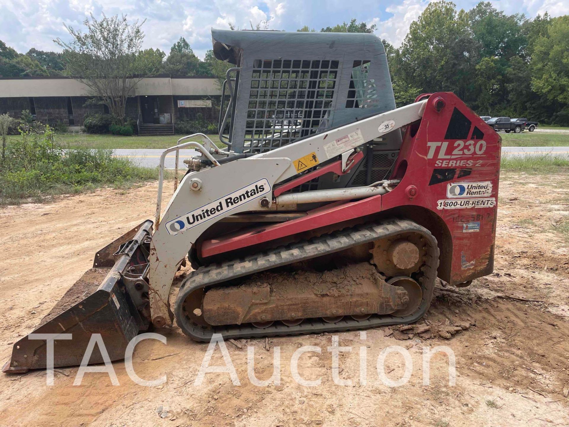
<svg viewBox="0 0 569 427"><path fill-rule="evenodd" d="M81 364L92 334L101 334L110 360L125 358L126 346L149 326L148 240L152 221L146 220L94 257L93 268L81 276L40 322L32 334L57 334L53 342L53 366ZM61 334L71 334L71 339ZM38 338L38 337L32 337ZM46 339L25 336L14 344L6 373L46 368ZM89 364L104 359L95 345Z"/></svg>

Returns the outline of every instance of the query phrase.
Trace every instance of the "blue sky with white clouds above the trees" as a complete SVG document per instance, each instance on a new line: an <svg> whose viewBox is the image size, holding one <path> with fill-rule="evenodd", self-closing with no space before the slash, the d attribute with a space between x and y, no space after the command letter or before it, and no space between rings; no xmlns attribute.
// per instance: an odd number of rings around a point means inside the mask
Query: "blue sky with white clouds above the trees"
<svg viewBox="0 0 569 427"><path fill-rule="evenodd" d="M457 9L471 9L478 1L457 0ZM92 13L126 14L142 21L144 47L168 54L184 36L199 58L211 49L211 28L250 28L270 19L269 29L296 31L308 25L320 30L351 18L376 24L376 35L399 46L409 25L427 7L428 0L0 0L0 40L20 53L60 51L53 39L69 40L64 24L81 28ZM494 0L506 14L523 13L533 18L546 11L552 16L569 14L569 0Z"/></svg>

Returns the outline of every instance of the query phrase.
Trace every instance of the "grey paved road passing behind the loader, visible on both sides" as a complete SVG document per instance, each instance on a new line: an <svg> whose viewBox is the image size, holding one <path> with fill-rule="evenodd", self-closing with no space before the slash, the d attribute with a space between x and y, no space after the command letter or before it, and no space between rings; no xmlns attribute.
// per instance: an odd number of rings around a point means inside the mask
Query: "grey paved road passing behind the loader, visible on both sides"
<svg viewBox="0 0 569 427"><path fill-rule="evenodd" d="M139 149L139 150L125 150L117 149L114 150L116 156L119 157L130 157L135 162L141 166L157 167L160 163L160 154L164 150L156 149ZM502 147L502 154L504 155L531 155L531 154L558 154L569 157L569 146L568 147ZM178 167L185 170L185 165L183 160L190 157L191 155L196 155L196 150L180 150L180 161ZM176 154L169 153L166 156L166 162L164 166L166 169L174 169L176 162Z"/></svg>

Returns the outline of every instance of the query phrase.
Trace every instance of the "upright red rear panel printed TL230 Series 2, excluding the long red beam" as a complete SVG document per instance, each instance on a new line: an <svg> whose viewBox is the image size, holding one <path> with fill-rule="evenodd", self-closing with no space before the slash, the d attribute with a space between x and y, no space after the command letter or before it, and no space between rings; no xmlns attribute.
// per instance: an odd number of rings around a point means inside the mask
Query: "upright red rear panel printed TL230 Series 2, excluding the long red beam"
<svg viewBox="0 0 569 427"><path fill-rule="evenodd" d="M452 284L492 272L500 153L500 136L449 92L430 96L403 139L395 165L403 178L382 210L413 204L444 221L439 276Z"/></svg>

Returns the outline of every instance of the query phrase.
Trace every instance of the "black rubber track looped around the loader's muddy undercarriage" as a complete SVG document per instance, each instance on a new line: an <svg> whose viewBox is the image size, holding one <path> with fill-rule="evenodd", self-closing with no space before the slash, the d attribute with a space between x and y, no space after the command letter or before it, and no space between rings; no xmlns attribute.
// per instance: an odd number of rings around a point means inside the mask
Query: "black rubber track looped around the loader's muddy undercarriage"
<svg viewBox="0 0 569 427"><path fill-rule="evenodd" d="M338 323L327 323L319 318L313 318L306 319L297 326L286 326L275 321L273 325L266 329L256 328L250 323L204 329L183 314L182 303L187 295L206 286L220 284L230 279L249 276L253 273L291 264L292 262L308 260L406 232L416 232L425 238L427 255L426 261L420 268L423 276L419 279L419 284L423 289L423 300L415 313L405 317L372 315L365 321L356 321L349 316L344 316ZM178 323L184 334L196 341L205 342L211 340L213 334L221 334L224 339L257 338L262 336L319 334L321 332L349 331L413 323L423 316L431 304L438 266L439 248L436 244L436 239L426 228L421 227L417 223L409 220L392 219L382 221L381 223L358 225L328 235L314 237L311 240L291 243L284 247L256 253L245 258L200 267L192 272L191 276L188 276L182 283L178 298L176 298L176 323Z"/></svg>

